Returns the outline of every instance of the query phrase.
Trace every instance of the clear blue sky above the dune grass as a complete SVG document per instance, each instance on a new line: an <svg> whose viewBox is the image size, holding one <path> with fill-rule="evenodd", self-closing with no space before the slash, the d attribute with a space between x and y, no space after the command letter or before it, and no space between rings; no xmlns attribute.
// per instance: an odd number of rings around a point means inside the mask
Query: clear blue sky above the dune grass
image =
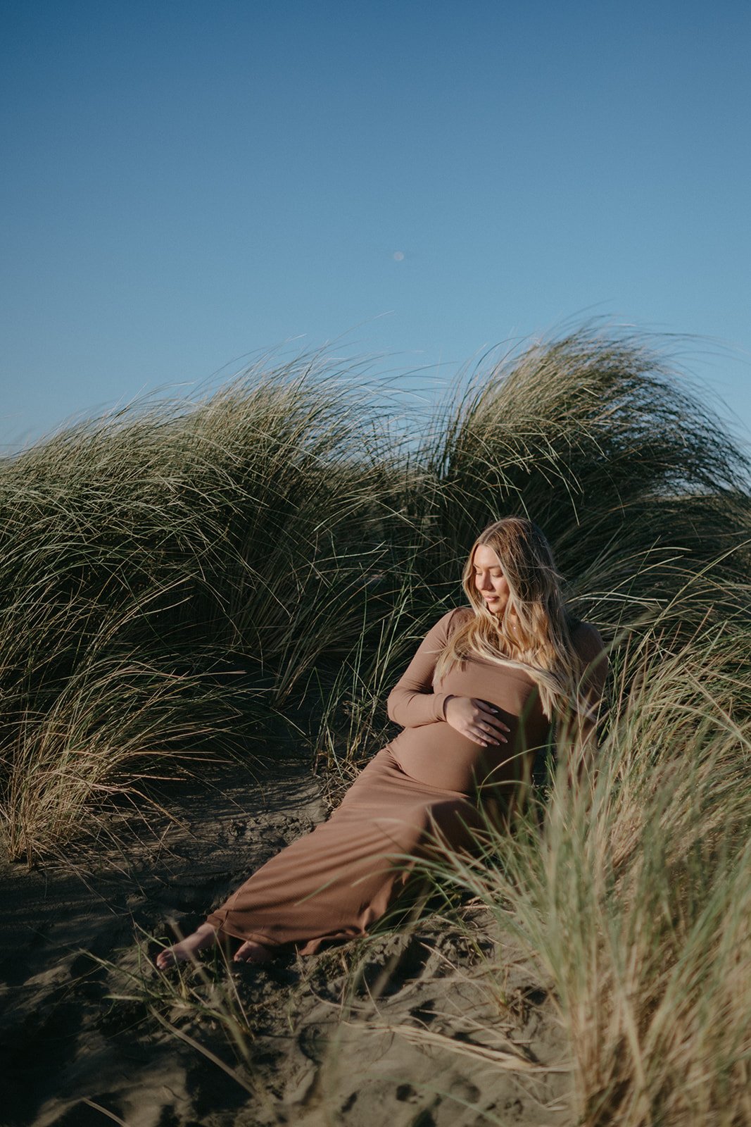
<svg viewBox="0 0 751 1127"><path fill-rule="evenodd" d="M710 338L751 432L748 0L0 11L2 449L289 338L406 385L591 314Z"/></svg>

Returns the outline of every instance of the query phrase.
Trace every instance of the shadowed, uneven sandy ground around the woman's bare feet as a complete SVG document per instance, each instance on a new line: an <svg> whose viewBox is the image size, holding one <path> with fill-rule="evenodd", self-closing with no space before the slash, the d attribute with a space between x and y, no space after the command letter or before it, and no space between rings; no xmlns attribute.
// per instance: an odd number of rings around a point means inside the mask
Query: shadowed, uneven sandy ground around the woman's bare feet
<svg viewBox="0 0 751 1127"><path fill-rule="evenodd" d="M263 773L267 778L267 772ZM490 914L268 967L161 976L147 935L193 930L325 816L297 763L176 791L153 833L0 871L0 1122L8 1127L556 1127L574 1121L555 1005ZM218 787L218 789L217 789ZM102 961L98 961L102 960ZM117 995L117 996L114 996ZM222 1020L231 999L241 1048Z"/></svg>

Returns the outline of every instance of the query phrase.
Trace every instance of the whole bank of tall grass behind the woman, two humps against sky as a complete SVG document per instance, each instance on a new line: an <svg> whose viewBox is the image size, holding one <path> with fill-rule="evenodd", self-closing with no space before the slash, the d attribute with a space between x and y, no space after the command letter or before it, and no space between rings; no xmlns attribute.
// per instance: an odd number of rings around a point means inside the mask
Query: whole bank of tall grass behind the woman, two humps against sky
<svg viewBox="0 0 751 1127"><path fill-rule="evenodd" d="M535 345L399 441L355 388L302 357L2 463L11 855L74 836L102 799L140 801L178 757L252 757L279 724L346 774L462 598L476 531L510 512L546 530L608 637L748 620L748 462L643 343Z"/></svg>

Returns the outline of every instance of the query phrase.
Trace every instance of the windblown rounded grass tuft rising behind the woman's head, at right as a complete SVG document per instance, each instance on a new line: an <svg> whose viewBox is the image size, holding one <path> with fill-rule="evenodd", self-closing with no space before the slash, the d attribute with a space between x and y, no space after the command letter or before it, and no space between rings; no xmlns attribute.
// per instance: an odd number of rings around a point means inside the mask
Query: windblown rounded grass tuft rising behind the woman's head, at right
<svg viewBox="0 0 751 1127"><path fill-rule="evenodd" d="M748 456L638 339L582 331L480 373L437 419L424 462L454 549L444 567L489 513L519 512L555 544L575 603L604 623L661 614L710 562L713 596L691 584L681 619L737 602Z"/></svg>

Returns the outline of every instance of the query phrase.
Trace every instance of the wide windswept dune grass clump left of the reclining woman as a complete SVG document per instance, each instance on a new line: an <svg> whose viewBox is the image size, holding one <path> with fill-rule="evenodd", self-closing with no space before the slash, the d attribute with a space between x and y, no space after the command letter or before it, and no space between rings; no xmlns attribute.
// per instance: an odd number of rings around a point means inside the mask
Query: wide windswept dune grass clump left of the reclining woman
<svg viewBox="0 0 751 1127"><path fill-rule="evenodd" d="M381 446L378 443L381 442ZM164 756L252 756L357 644L402 472L309 367L66 431L0 473L0 754L11 855ZM385 560L385 565L384 565ZM367 618L367 614L366 614Z"/></svg>

